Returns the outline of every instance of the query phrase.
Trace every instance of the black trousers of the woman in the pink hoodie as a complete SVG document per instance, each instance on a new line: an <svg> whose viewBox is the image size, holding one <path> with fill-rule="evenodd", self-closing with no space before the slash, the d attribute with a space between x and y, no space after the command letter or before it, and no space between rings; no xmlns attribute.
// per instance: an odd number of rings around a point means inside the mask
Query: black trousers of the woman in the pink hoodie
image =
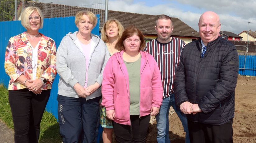
<svg viewBox="0 0 256 143"><path fill-rule="evenodd" d="M131 126L113 122L117 143L145 143L150 114L140 117L130 115Z"/></svg>

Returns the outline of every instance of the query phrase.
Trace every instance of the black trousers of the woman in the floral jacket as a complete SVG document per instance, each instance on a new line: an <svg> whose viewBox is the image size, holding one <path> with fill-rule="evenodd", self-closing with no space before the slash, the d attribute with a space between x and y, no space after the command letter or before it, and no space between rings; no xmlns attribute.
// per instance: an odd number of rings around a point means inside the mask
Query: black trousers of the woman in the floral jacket
<svg viewBox="0 0 256 143"><path fill-rule="evenodd" d="M15 143L38 143L40 122L51 90L35 95L28 89L9 90Z"/></svg>

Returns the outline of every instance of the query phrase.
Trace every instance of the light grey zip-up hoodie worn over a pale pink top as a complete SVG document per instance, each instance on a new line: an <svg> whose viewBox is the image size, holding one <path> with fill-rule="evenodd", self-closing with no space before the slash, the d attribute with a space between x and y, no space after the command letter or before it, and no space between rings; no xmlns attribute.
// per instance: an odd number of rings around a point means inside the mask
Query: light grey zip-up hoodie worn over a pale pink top
<svg viewBox="0 0 256 143"><path fill-rule="evenodd" d="M56 54L56 69L60 75L58 84L58 94L67 97L79 98L74 90L74 85L79 83L85 86L86 60L84 52L77 42L77 31L68 33L62 39ZM89 67L88 67L88 86L97 82L102 83L104 67L109 59L109 52L105 43L94 34L91 34L91 45L93 47ZM86 100L101 96L101 87L93 94L86 97Z"/></svg>

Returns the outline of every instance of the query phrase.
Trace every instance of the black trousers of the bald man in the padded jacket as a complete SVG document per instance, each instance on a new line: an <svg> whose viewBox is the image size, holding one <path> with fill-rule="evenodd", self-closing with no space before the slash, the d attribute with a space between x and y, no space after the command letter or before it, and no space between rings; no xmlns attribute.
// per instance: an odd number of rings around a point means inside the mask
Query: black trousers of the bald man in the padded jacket
<svg viewBox="0 0 256 143"><path fill-rule="evenodd" d="M222 125L209 125L188 120L191 143L232 143L233 120Z"/></svg>

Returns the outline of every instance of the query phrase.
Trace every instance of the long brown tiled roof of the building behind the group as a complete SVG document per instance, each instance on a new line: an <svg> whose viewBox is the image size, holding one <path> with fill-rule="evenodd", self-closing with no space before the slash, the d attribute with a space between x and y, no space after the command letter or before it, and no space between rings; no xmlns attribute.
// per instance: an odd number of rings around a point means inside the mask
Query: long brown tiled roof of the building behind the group
<svg viewBox="0 0 256 143"><path fill-rule="evenodd" d="M44 18L53 18L53 17L69 17L75 16L77 11L92 11L94 14L100 14L100 26L104 24L104 11L102 9L94 8L85 8L85 7L74 7L60 4L52 3L42 3L42 2L29 2L24 1L24 6L34 6L39 7L43 12ZM147 14L138 14L122 11L111 11L108 10L108 19L117 19L119 20L124 28L127 28L130 25L134 25L139 28L143 34L152 34L156 35L155 23L159 15L147 15ZM199 38L199 33L191 28L189 25L185 24L183 21L176 17L171 18L174 29L172 31L172 36L180 37L196 37Z"/></svg>

